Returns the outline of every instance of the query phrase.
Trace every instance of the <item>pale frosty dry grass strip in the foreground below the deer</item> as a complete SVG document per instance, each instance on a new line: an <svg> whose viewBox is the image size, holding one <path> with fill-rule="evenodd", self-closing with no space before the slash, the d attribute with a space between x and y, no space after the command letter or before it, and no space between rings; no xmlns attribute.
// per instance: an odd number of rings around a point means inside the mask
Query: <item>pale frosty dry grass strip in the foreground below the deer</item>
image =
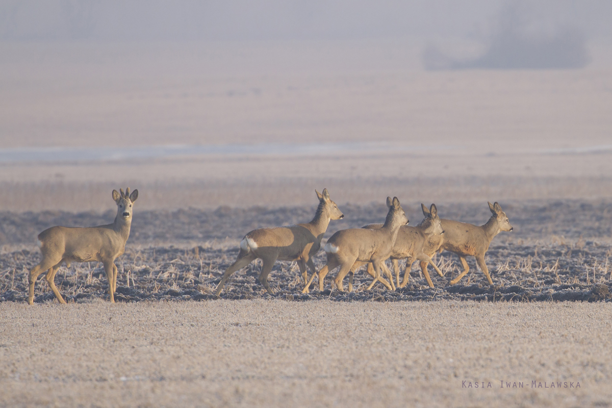
<svg viewBox="0 0 612 408"><path fill-rule="evenodd" d="M1 307L1 406L612 402L608 303L219 300ZM462 388L464 380L491 388ZM524 388L500 388L501 381ZM542 388L532 388L532 381ZM580 382L580 388L544 388L551 382Z"/></svg>

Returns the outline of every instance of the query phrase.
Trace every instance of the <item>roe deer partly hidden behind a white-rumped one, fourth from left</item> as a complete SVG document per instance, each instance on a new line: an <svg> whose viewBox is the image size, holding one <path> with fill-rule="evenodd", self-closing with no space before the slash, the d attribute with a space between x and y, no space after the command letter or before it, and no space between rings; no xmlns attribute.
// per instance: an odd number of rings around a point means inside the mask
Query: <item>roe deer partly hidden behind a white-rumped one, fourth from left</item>
<svg viewBox="0 0 612 408"><path fill-rule="evenodd" d="M441 237L442 234L444 234L442 223L440 221L440 218L438 217L438 209L436 208L436 204L431 204L430 210L427 210L427 207L425 207L423 204L421 204L421 207L423 209L423 214L425 215L425 218L420 221L420 223L416 227L400 227L400 231L398 231L397 233L397 239L395 239L393 252L391 253L391 256L389 256L389 259L392 260L395 269L395 280L397 281L397 287L404 287L406 286L406 284L408 284L411 265L417 259L421 262L425 262L425 264L431 264L431 266L433 266L433 269L438 272L438 275L443 276L442 272L431 260L430 255L426 252L427 250L429 250L429 248L427 248L427 243L430 237ZM383 224L368 224L366 226L363 226L362 228L377 229L381 228L382 226ZM437 250L438 247L436 247L435 249ZM433 252L435 253L435 250ZM404 278L401 281L401 284L400 267L398 266L397 262L399 259L406 259L406 269L404 271ZM365 262L357 261L351 268L351 271L349 272L349 292L353 287L354 271L359 269L359 267L361 267L364 263ZM386 270L385 273L387 274L387 276L391 275L391 272L389 271L389 269L387 269L387 265L383 263L381 267ZM367 270L371 276L376 277L371 263L368 264ZM429 273L427 272L427 269L425 269L424 275L425 279L427 280L427 284L430 287L433 287L433 283L431 282L431 278L429 276ZM390 277L390 279L393 286L393 278Z"/></svg>

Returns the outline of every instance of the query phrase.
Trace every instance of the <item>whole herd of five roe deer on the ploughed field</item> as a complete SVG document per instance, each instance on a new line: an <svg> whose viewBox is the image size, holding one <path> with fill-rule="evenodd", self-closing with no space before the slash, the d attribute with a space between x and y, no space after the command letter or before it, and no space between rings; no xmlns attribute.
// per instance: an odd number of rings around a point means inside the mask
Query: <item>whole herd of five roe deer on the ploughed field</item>
<svg viewBox="0 0 612 408"><path fill-rule="evenodd" d="M459 256L463 272L450 284L457 283L469 272L466 256L474 256L489 284L493 284L485 264L485 253L491 240L501 231L512 231L512 225L497 202L489 204L491 218L482 226L459 221L445 220L438 217L435 204L429 208L421 204L425 218L415 227L408 226L406 212L401 208L400 200L387 197L389 212L384 224L367 224L362 228L341 229L332 235L323 250L327 262L319 271L316 270L313 256L321 249L321 240L331 220L340 220L344 214L329 198L327 189L323 193L316 191L319 206L315 217L309 223L259 228L251 232L240 242L240 251L236 261L225 270L218 283L215 295L220 295L231 274L246 267L255 259L261 259L263 267L259 282L269 294L273 294L267 276L276 261L296 261L304 279L302 293L307 293L315 279L318 278L319 291L324 290L325 276L331 270L340 267L334 279L338 291L344 291L343 280L348 279L348 291L353 290L353 275L359 267L367 264L367 272L372 281L366 290L376 282L382 283L390 291L408 284L410 270L414 261L420 262L420 270L430 287L433 282L427 270L431 265L439 276L444 276L431 256L436 252L450 251ZM125 242L130 236L132 223L132 205L138 198L138 190L130 194L130 189L119 192L113 190L113 199L117 204L117 216L112 224L89 228L69 228L54 226L41 232L38 236L42 260L29 273L30 304L34 303L34 284L36 278L46 272L46 279L53 294L60 303L65 303L53 281L62 262L99 261L104 265L108 280L110 301L114 303L114 292L117 285L117 267L114 260L125 250ZM387 268L385 261L390 259L395 271L394 276ZM404 275L400 283L398 261L406 259ZM312 275L308 279L308 271ZM388 278L381 276L381 272Z"/></svg>

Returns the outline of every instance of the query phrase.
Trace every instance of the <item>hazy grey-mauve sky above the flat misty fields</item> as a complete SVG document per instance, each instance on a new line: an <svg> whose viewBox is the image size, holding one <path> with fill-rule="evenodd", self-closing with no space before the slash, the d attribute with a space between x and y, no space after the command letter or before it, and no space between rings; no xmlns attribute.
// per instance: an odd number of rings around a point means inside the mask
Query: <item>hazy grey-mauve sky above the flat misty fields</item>
<svg viewBox="0 0 612 408"><path fill-rule="evenodd" d="M0 0L1 40L291 40L464 37L496 30L502 0ZM512 1L526 26L611 39L608 0Z"/></svg>

